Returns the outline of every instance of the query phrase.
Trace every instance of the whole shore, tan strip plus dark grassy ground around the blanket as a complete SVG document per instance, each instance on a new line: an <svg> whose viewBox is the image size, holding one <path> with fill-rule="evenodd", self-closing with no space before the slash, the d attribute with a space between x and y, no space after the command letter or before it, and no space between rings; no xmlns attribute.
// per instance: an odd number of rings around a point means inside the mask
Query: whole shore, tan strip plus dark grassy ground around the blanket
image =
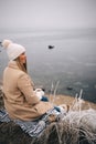
<svg viewBox="0 0 96 144"><path fill-rule="evenodd" d="M2 96L0 89L0 109L4 107ZM72 105L75 100L67 95L55 95L55 101L53 101L54 95L47 97L57 105L63 103ZM96 144L96 115L90 116L96 110L96 104L83 102L81 109L81 114L83 111L86 116L83 115L81 122L78 122L78 111L74 110L75 113L70 113L64 121L51 123L40 137L30 137L13 122L0 122L0 144Z"/></svg>

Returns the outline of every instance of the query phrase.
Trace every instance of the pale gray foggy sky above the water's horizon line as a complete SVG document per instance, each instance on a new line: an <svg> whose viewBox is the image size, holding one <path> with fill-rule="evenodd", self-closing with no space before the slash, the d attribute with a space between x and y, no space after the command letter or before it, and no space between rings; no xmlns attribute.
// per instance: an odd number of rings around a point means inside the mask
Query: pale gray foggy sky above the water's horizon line
<svg viewBox="0 0 96 144"><path fill-rule="evenodd" d="M96 0L0 0L0 28L96 28Z"/></svg>

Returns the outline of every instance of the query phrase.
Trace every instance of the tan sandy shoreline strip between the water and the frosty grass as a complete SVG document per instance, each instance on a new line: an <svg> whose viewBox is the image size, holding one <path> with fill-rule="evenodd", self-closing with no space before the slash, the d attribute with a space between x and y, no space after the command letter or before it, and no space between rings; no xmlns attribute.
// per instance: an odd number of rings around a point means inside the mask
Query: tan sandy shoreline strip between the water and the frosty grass
<svg viewBox="0 0 96 144"><path fill-rule="evenodd" d="M0 83L0 107L2 106L3 102L2 102L2 96L3 96L3 93L2 93L2 84ZM51 103L54 103L56 105L61 105L61 104L66 104L66 105L73 105L73 103L76 101L76 97L75 96L71 96L71 95L62 95L62 94L58 94L58 95L53 95L53 94L45 94L47 97L49 97L49 101ZM82 110L87 110L87 109L95 109L96 110L96 104L93 103L93 102L89 102L89 101L85 101L83 100L83 103L82 103Z"/></svg>

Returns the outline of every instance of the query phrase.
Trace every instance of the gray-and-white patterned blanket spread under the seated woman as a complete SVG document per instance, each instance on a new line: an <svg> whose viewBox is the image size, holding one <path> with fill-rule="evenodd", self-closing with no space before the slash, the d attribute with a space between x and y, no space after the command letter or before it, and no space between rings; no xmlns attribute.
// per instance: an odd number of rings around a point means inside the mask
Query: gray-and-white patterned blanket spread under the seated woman
<svg viewBox="0 0 96 144"><path fill-rule="evenodd" d="M39 137L42 132L45 130L45 127L50 124L49 123L49 115L55 114L56 117L60 117L60 112L57 112L55 109L47 111L44 115L36 119L35 121L21 121L21 120L14 120L12 121L9 117L9 114L6 110L0 110L0 122L14 122L15 124L20 125L20 127L28 133L31 137L35 136Z"/></svg>

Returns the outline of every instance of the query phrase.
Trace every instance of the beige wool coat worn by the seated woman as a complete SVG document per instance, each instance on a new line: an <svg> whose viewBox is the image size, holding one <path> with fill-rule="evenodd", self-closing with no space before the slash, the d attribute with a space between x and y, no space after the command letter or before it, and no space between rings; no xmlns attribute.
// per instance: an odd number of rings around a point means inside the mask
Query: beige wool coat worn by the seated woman
<svg viewBox="0 0 96 144"><path fill-rule="evenodd" d="M13 120L35 120L53 107L50 102L39 100L30 76L15 61L10 61L3 72L3 92L4 107Z"/></svg>

